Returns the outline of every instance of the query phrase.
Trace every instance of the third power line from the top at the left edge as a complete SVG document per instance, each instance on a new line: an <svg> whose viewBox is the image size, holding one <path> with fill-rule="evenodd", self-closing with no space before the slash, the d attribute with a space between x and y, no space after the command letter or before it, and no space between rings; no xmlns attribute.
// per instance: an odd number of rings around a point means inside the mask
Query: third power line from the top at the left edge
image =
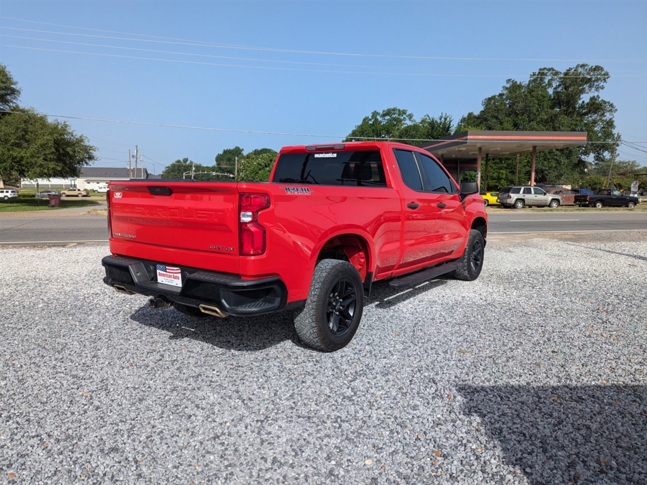
<svg viewBox="0 0 647 485"><path fill-rule="evenodd" d="M10 28L10 27L0 27L0 28ZM318 62L304 62L304 61L284 61L284 60L277 60L277 59L256 59L256 58L239 58L239 57L232 57L232 56L214 56L213 54L195 54L192 52L177 52L173 50L156 50L156 49L145 49L145 48L137 48L137 47L123 47L123 46L116 46L116 45L105 45L105 44L93 44L93 43L87 43L87 42L72 42L72 41L62 41L62 40L56 40L56 39L43 39L43 38L35 38L35 37L25 37L25 36L10 36L8 34L0 34L2 37L6 38L12 38L12 39L25 39L25 40L35 40L35 41L41 41L41 42L54 42L54 43L61 43L61 44L71 44L71 45L83 45L85 47L100 47L100 48L113 48L113 49L121 49L121 50L137 50L138 52L155 52L157 54L173 54L177 56L193 56L193 57L202 57L202 58L215 58L215 59L230 59L230 60L235 60L235 61L252 61L252 62L270 62L270 63L282 63L282 64L296 64L296 65L315 65L315 66L327 66L327 67L354 67L358 69L404 69L404 70L440 70L440 71L458 71L458 72L506 72L506 73L512 73L512 74L523 74L527 73L527 70L512 70L512 69L442 69L442 68L431 68L431 67L391 67L391 66L375 66L375 65L347 65L347 64L335 64L335 63L318 63ZM140 39L131 39L131 40L136 40L139 41ZM86 54L91 54L91 52L85 52ZM162 60L162 59L158 59ZM631 73L641 73L647 75L647 71L644 70L618 70L618 71L613 71L613 73L609 73L611 76L617 76L617 74L614 74L615 72L620 72L620 73L626 73L626 72L631 72ZM395 74L395 73L392 73ZM563 77L582 77L582 76L606 76L608 73L607 72L597 72L597 71L578 71L577 76L563 76ZM530 76L530 74L528 74ZM552 76L553 73L547 74L549 76ZM562 76L560 76L562 77Z"/></svg>

